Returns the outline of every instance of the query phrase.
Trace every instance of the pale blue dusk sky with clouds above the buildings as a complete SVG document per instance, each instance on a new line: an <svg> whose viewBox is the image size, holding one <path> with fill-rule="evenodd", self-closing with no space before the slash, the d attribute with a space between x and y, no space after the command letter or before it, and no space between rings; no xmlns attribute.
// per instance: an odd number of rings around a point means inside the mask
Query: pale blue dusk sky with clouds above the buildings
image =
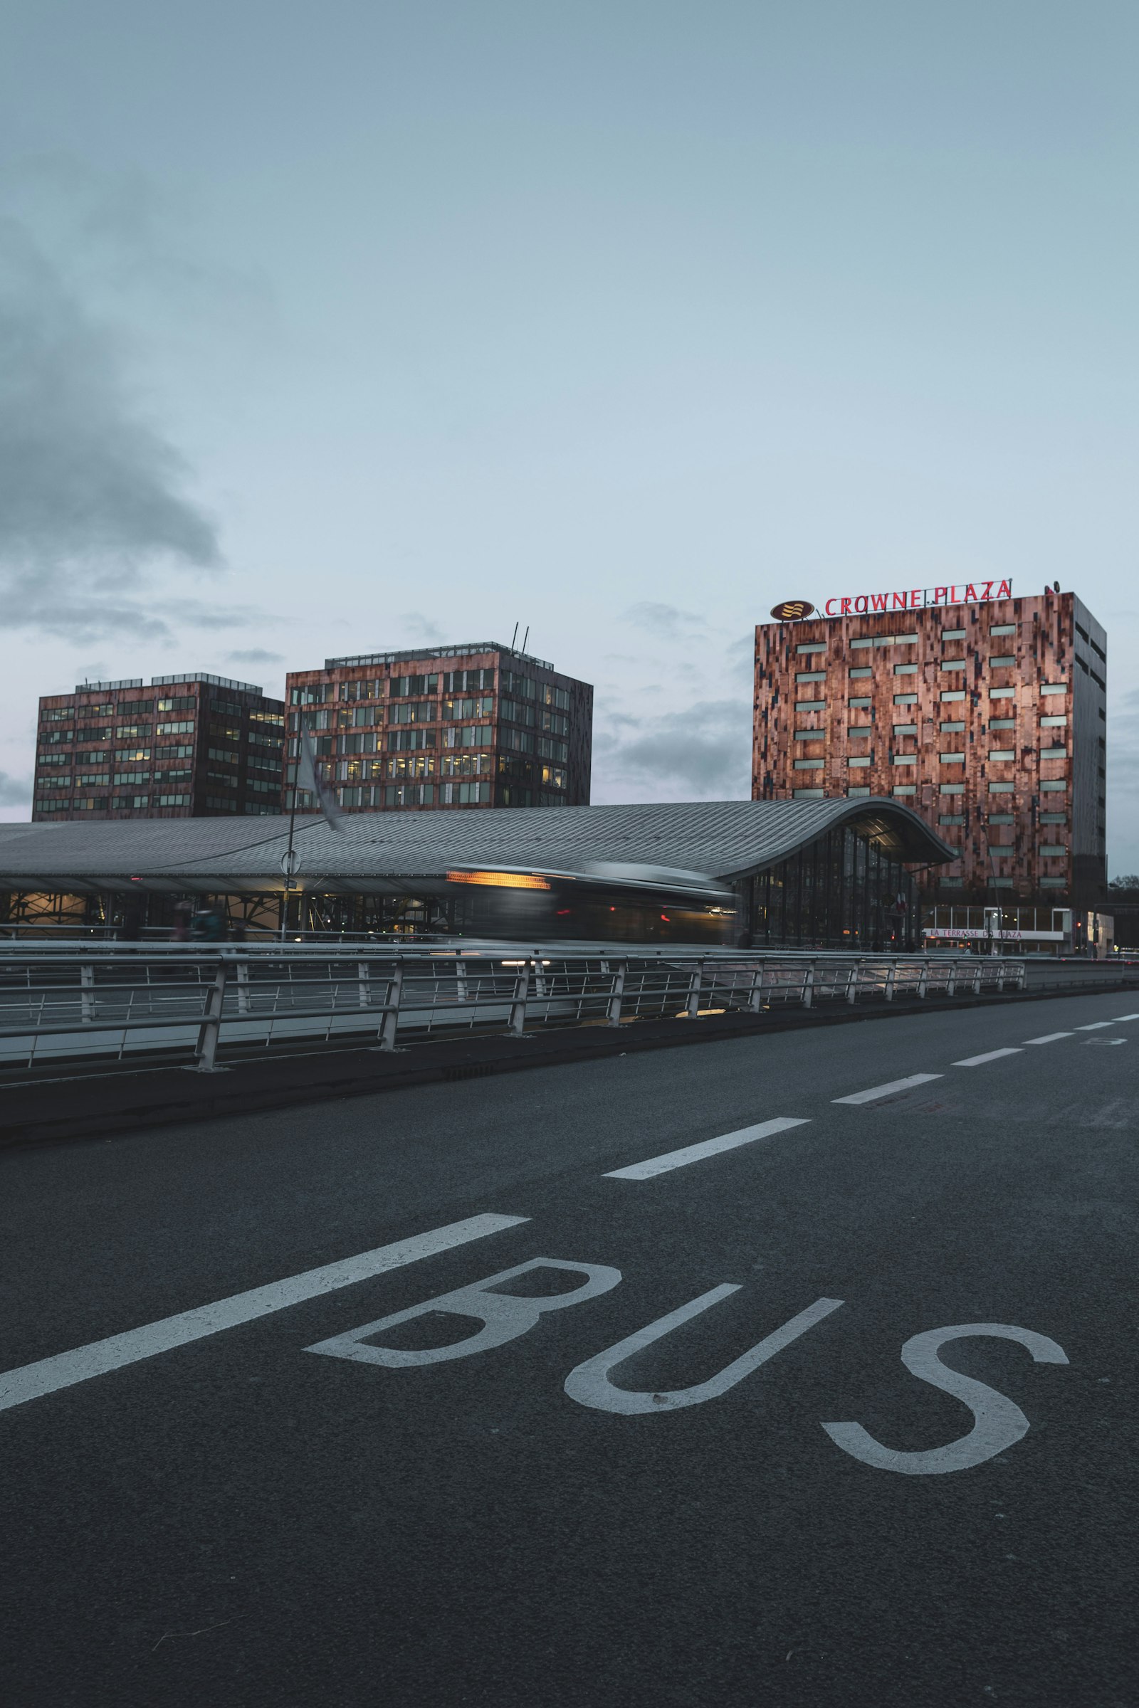
<svg viewBox="0 0 1139 1708"><path fill-rule="evenodd" d="M39 693L505 640L748 794L775 600L1059 581L1139 871L1139 10L7 0L0 816ZM521 630L519 630L521 637Z"/></svg>

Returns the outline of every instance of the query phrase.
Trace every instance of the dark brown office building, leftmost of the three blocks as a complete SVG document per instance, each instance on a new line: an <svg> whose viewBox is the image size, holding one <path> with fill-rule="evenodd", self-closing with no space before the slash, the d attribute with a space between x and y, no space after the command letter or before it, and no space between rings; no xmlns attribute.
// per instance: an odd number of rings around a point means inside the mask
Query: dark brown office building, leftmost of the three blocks
<svg viewBox="0 0 1139 1708"><path fill-rule="evenodd" d="M32 820L280 813L285 707L227 676L84 681L39 700Z"/></svg>

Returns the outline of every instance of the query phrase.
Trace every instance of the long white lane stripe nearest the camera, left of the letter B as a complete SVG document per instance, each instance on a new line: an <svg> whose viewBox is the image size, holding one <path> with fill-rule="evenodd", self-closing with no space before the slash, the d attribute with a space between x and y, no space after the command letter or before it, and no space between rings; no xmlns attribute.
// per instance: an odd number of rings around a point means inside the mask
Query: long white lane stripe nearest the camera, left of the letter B
<svg viewBox="0 0 1139 1708"><path fill-rule="evenodd" d="M236 1329L241 1322L268 1317L272 1312L299 1305L306 1298L318 1298L321 1293L352 1286L353 1281L367 1281L389 1269L401 1269L405 1264L418 1262L420 1257L435 1257L456 1245L483 1240L488 1233L516 1228L521 1221L529 1221L529 1216L468 1216L464 1221L451 1221L444 1228L432 1228L429 1233L417 1233L408 1240L396 1240L393 1245L377 1245L376 1250L360 1252L359 1257L342 1257L340 1262L306 1269L304 1274L270 1281L248 1293L234 1293L213 1305L198 1305L196 1310L183 1310L178 1317L164 1317L142 1329L113 1334L106 1341L92 1341L72 1353L56 1353L55 1358L41 1358L34 1365L7 1370L0 1375L0 1411L7 1411L9 1406L22 1406L24 1401L39 1399L43 1394L55 1394L56 1389L72 1387L72 1383L85 1382L89 1377L101 1377L108 1370L138 1363L140 1358L169 1353L174 1346L186 1346L207 1334Z"/></svg>

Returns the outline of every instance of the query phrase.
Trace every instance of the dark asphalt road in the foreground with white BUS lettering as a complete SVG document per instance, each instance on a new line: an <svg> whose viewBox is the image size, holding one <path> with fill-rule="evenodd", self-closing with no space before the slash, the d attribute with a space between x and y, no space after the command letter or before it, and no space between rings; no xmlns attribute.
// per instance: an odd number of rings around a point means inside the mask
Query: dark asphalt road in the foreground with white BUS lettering
<svg viewBox="0 0 1139 1708"><path fill-rule="evenodd" d="M0 1158L0 1699L1132 1708L1132 1001Z"/></svg>

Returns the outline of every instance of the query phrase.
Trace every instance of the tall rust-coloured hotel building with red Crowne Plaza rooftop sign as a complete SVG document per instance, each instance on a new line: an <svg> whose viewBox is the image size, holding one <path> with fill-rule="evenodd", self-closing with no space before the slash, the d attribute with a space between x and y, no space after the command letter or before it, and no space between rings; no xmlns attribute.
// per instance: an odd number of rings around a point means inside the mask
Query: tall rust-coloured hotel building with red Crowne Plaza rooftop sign
<svg viewBox="0 0 1139 1708"><path fill-rule="evenodd" d="M753 799L897 796L960 849L924 876L927 895L1095 905L1103 627L1072 593L931 593L758 625Z"/></svg>

